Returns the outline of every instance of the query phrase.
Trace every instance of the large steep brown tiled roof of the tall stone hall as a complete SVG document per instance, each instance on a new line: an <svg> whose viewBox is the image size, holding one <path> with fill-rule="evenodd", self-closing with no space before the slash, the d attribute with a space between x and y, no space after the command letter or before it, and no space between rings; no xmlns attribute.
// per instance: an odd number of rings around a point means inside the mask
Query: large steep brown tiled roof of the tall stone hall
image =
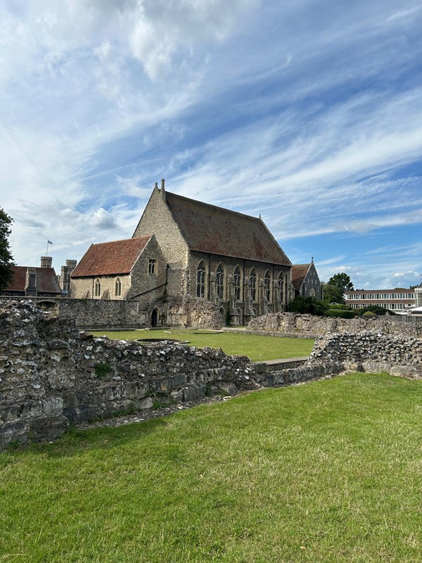
<svg viewBox="0 0 422 563"><path fill-rule="evenodd" d="M257 217L165 192L165 201L192 251L290 266Z"/></svg>

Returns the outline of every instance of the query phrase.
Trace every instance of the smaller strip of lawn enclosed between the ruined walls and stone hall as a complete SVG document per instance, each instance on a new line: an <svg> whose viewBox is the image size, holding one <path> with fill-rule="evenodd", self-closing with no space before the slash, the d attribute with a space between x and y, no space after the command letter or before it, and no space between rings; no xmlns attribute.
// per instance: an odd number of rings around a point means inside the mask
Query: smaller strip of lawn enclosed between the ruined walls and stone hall
<svg viewBox="0 0 422 563"><path fill-rule="evenodd" d="M245 355L253 362L260 360L280 360L307 356L312 352L313 339L285 339L279 336L262 336L237 332L211 332L188 329L154 331L95 331L92 334L110 339L177 339L188 340L198 348L222 348L227 355Z"/></svg>

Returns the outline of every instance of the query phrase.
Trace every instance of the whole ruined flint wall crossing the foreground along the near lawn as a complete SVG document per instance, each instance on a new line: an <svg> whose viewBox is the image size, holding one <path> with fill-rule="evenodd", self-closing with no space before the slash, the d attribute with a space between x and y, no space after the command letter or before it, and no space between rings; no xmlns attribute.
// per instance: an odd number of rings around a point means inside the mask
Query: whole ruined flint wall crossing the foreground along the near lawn
<svg viewBox="0 0 422 563"><path fill-rule="evenodd" d="M0 304L0 448L53 440L69 426L217 393L306 381L345 369L422 376L422 341L376 333L317 339L309 361L273 370L222 350L79 334L29 301Z"/></svg>

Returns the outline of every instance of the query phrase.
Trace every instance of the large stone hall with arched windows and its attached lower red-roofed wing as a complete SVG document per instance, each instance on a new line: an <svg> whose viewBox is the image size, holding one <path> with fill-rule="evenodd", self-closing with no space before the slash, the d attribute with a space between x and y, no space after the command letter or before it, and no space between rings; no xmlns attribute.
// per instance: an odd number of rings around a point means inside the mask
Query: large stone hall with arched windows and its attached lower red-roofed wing
<svg viewBox="0 0 422 563"><path fill-rule="evenodd" d="M162 180L132 239L91 245L70 274L69 296L139 301L151 324L166 300L203 298L224 320L246 324L286 310L295 288L292 263L261 217L172 194Z"/></svg>

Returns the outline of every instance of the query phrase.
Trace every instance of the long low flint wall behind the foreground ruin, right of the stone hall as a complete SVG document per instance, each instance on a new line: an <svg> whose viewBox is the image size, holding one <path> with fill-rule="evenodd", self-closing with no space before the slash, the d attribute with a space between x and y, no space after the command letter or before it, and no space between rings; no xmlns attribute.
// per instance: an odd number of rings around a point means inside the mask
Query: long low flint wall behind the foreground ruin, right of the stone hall
<svg viewBox="0 0 422 563"><path fill-rule="evenodd" d="M366 331L381 331L383 334L422 337L422 323L395 322L385 318L339 319L300 315L293 312L269 313L257 317L250 321L248 330L300 334L302 336L323 336L330 332L360 334Z"/></svg>

